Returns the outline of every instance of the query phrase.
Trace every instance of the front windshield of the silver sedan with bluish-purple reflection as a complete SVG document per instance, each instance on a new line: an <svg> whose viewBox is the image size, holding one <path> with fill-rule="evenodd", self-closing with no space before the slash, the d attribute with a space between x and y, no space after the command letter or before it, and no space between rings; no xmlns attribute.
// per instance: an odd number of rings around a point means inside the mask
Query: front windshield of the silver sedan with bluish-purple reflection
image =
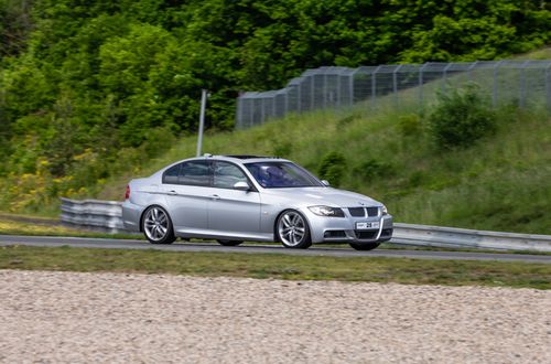
<svg viewBox="0 0 551 364"><path fill-rule="evenodd" d="M245 167L264 189L324 186L306 170L291 162L257 162Z"/></svg>

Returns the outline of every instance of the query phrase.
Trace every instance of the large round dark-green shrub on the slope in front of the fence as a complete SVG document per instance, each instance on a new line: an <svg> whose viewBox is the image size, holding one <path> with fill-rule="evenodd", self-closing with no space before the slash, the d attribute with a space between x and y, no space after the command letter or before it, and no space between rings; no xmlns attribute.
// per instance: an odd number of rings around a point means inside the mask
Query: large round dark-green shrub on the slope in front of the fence
<svg viewBox="0 0 551 364"><path fill-rule="evenodd" d="M477 84L437 95L429 115L431 137L440 149L469 147L496 130L496 115Z"/></svg>

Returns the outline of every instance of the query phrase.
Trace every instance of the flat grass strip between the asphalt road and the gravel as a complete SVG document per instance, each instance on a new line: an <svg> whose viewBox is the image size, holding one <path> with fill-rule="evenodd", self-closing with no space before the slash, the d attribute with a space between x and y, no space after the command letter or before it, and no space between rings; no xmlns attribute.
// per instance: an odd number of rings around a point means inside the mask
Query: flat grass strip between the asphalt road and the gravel
<svg viewBox="0 0 551 364"><path fill-rule="evenodd" d="M333 258L10 246L0 247L0 269L551 289L550 265L403 258Z"/></svg>

